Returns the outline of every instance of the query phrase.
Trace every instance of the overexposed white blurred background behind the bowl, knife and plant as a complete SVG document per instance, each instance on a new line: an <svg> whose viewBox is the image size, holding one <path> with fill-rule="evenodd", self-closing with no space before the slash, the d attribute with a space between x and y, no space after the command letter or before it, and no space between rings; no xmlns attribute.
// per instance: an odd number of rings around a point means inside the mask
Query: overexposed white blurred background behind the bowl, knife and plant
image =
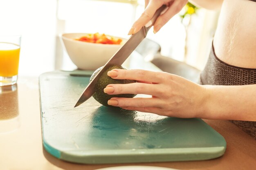
<svg viewBox="0 0 256 170"><path fill-rule="evenodd" d="M61 45L61 33L105 33L128 38L144 0L0 0L0 35L22 35L19 75L38 76L76 66ZM219 11L188 4L157 34L166 57L204 68Z"/></svg>

